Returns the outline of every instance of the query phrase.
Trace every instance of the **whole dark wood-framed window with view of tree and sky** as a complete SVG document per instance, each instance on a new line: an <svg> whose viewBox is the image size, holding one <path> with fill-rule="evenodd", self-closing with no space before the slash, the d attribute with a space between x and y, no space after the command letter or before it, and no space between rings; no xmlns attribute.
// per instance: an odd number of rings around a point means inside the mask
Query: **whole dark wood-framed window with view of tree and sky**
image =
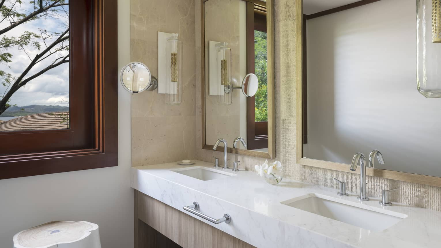
<svg viewBox="0 0 441 248"><path fill-rule="evenodd" d="M0 179L116 166L116 0L0 4Z"/></svg>

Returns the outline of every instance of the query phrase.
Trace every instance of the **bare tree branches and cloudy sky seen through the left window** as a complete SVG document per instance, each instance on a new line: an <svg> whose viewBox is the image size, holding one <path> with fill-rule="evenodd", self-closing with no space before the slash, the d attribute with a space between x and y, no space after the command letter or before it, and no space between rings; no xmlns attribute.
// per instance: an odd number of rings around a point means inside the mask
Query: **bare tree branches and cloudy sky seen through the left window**
<svg viewBox="0 0 441 248"><path fill-rule="evenodd" d="M68 5L68 0L0 1L2 119L45 114L41 121L53 119L62 125L27 129L68 128ZM17 105L26 107L11 108Z"/></svg>

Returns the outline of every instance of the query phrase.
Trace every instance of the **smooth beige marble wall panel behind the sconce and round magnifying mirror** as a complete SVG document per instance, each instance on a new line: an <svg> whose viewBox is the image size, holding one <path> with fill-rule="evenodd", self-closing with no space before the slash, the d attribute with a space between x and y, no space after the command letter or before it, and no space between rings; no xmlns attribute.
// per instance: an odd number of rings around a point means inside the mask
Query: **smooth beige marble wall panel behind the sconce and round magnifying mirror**
<svg viewBox="0 0 441 248"><path fill-rule="evenodd" d="M157 76L157 31L179 33L183 42L182 103L165 104L157 90L132 94L132 166L195 158L194 18L193 0L131 0L132 61Z"/></svg>

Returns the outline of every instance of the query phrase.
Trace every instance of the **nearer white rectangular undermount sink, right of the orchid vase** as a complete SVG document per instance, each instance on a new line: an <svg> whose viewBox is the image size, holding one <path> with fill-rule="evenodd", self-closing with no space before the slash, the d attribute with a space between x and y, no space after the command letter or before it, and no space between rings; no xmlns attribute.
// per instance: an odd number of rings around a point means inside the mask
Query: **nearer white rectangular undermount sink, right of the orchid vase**
<svg viewBox="0 0 441 248"><path fill-rule="evenodd" d="M407 217L394 211L314 193L281 204L371 231L382 231Z"/></svg>

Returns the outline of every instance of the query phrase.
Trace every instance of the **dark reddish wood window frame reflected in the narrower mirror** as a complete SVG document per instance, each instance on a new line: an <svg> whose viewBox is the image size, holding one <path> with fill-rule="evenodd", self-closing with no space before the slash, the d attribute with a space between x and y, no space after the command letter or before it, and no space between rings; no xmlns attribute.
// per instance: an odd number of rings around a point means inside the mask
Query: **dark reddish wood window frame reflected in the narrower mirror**
<svg viewBox="0 0 441 248"><path fill-rule="evenodd" d="M254 30L266 33L266 8L247 2L247 44L254 44ZM260 3L262 4L262 3ZM254 45L247 46L247 74L254 73ZM247 98L247 149L268 148L268 122L255 121L255 97Z"/></svg>

